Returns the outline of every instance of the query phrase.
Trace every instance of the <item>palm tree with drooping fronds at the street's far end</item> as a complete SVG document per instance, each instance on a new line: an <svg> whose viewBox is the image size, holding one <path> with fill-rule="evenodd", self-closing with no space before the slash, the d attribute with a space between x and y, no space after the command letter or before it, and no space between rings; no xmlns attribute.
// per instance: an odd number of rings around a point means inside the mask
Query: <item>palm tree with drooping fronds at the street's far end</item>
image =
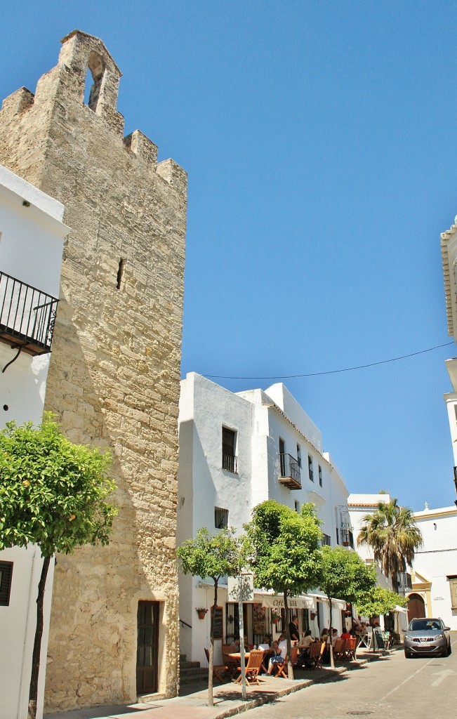
<svg viewBox="0 0 457 719"><path fill-rule="evenodd" d="M373 514L364 517L364 526L357 544L371 546L374 559L381 564L382 573L392 579L392 589L398 592L398 572L412 566L415 551L423 546L422 534L416 526L412 510L397 505L397 500L379 502Z"/></svg>

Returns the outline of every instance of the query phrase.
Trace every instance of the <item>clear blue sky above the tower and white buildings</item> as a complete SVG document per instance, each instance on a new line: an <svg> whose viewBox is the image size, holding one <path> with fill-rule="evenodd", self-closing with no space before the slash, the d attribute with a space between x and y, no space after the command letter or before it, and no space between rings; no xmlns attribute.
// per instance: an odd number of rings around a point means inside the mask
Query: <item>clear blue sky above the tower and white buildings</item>
<svg viewBox="0 0 457 719"><path fill-rule="evenodd" d="M364 365L449 341L454 2L0 2L0 96L101 37L141 129L188 171L183 376ZM445 347L285 380L353 492L453 503ZM216 380L231 390L269 380Z"/></svg>

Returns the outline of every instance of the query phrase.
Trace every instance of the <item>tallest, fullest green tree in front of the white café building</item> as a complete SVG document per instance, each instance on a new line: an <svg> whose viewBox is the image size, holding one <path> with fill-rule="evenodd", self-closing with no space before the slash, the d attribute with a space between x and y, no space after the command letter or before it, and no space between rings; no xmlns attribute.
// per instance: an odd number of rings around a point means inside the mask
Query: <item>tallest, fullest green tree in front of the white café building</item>
<svg viewBox="0 0 457 719"><path fill-rule="evenodd" d="M290 610L288 597L307 592L320 577L320 521L314 505L305 504L300 514L274 500L257 505L252 521L244 526L250 544L249 562L254 585L282 594L285 607L288 672L290 662Z"/></svg>

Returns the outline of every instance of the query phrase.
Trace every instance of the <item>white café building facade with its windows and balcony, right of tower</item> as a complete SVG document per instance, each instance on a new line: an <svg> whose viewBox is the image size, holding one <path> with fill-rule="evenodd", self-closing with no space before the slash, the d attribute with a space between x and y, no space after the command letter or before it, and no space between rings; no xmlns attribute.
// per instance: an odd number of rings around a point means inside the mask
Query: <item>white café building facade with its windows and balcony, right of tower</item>
<svg viewBox="0 0 457 719"><path fill-rule="evenodd" d="M181 383L180 462L178 474L177 544L207 527L211 533L229 526L241 533L252 509L265 500L300 510L315 504L324 541L330 546L354 546L348 514L348 490L328 454L322 436L303 408L282 383L267 390L229 390L193 372ZM317 634L328 626L328 606L320 592L292 600L300 631ZM180 576L180 651L188 659L204 661L209 644L210 613L199 619L196 609L213 605L213 585ZM227 602L226 584L218 594L219 620L216 659L221 644L236 637L238 607ZM277 638L282 618L281 597L254 591L244 605L244 628L249 644L264 635ZM346 604L333 603L333 626L341 628ZM292 610L293 611L293 610Z"/></svg>

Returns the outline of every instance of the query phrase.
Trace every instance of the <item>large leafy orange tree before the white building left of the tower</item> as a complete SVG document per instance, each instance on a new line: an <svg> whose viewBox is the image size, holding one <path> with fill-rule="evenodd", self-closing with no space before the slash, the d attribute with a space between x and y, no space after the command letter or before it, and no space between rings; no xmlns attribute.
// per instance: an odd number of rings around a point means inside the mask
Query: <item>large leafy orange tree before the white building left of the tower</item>
<svg viewBox="0 0 457 719"><path fill-rule="evenodd" d="M73 444L50 414L42 424L0 431L0 549L40 546L42 572L37 595L37 627L32 654L29 719L37 713L43 633L43 600L50 560L83 544L108 544L117 509L106 498L115 490L107 477L109 454Z"/></svg>

